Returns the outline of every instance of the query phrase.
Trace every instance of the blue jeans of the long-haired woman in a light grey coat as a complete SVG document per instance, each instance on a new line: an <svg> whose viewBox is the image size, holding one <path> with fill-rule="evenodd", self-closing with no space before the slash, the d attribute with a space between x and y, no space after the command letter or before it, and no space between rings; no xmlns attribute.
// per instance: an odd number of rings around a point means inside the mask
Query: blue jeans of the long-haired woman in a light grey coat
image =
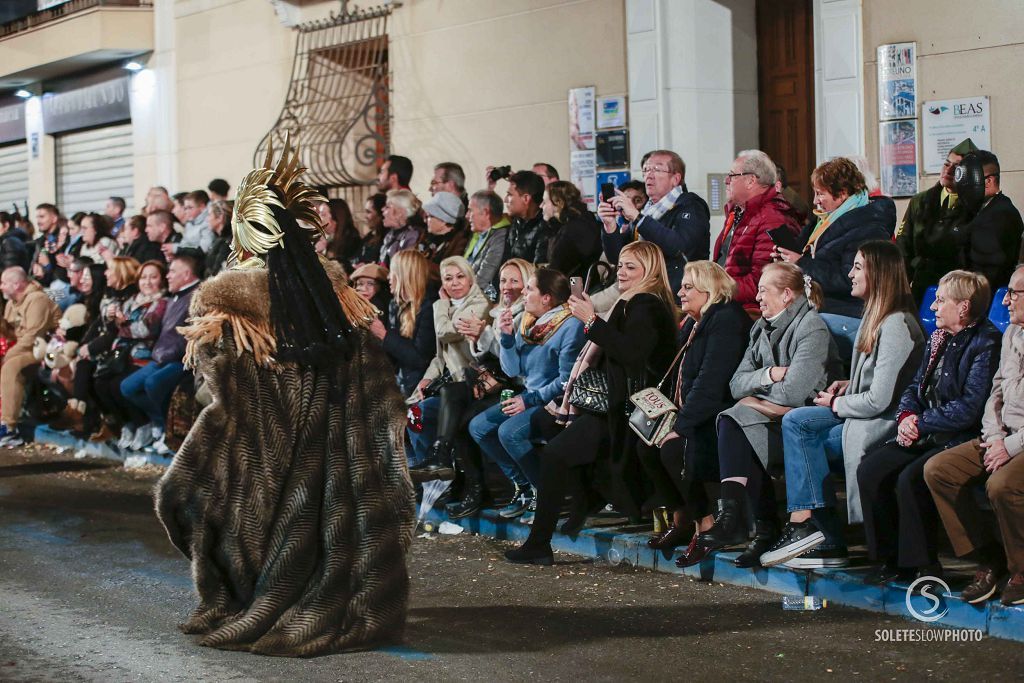
<svg viewBox="0 0 1024 683"><path fill-rule="evenodd" d="M831 473L843 470L843 420L828 408L794 409L782 418L782 447L786 510L811 510L825 543L842 543ZM827 514L816 512L824 508Z"/></svg>

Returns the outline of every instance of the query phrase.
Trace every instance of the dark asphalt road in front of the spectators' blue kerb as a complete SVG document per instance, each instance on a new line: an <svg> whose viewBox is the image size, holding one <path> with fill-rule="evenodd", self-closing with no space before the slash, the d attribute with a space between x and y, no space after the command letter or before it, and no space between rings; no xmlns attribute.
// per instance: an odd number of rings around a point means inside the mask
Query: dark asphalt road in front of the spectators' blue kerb
<svg viewBox="0 0 1024 683"><path fill-rule="evenodd" d="M158 472L0 452L0 681L996 680L1024 646L877 642L916 628L850 608L558 555L501 559L478 537L417 539L400 647L285 659L197 646L186 561L152 512Z"/></svg>

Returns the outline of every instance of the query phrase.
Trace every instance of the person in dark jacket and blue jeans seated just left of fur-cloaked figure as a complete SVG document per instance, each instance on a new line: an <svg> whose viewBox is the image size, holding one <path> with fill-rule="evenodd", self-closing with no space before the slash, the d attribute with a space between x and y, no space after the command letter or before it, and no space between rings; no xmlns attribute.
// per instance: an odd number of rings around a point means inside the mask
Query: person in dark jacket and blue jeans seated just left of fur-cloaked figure
<svg viewBox="0 0 1024 683"><path fill-rule="evenodd" d="M167 269L169 302L160 337L153 347L153 360L121 383L122 395L144 412L152 425L148 432L144 425L138 426L130 446L134 451L140 451L155 441L163 441L171 394L185 373L182 362L185 340L178 332L178 326L184 325L188 317L188 304L199 285L202 262L202 255L196 250L181 249L174 256Z"/></svg>

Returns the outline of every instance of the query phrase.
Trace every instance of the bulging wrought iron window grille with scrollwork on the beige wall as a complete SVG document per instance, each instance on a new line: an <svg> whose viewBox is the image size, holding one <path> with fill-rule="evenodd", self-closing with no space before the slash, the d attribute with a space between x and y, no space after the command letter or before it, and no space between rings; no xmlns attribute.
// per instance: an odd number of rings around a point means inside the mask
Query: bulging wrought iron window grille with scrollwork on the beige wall
<svg viewBox="0 0 1024 683"><path fill-rule="evenodd" d="M349 11L342 2L340 13L295 28L299 35L288 95L256 147L256 164L270 140L280 150L290 132L310 184L350 202L367 195L378 161L388 155L387 20L394 6Z"/></svg>

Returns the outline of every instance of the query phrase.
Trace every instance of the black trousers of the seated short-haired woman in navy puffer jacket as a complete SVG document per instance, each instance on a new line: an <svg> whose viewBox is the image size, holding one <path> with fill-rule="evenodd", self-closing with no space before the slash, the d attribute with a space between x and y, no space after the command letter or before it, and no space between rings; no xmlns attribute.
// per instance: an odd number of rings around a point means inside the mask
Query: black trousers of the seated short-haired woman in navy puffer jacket
<svg viewBox="0 0 1024 683"><path fill-rule="evenodd" d="M857 485L872 560L906 568L938 563L939 513L925 482L925 463L942 450L890 442L860 461Z"/></svg>

